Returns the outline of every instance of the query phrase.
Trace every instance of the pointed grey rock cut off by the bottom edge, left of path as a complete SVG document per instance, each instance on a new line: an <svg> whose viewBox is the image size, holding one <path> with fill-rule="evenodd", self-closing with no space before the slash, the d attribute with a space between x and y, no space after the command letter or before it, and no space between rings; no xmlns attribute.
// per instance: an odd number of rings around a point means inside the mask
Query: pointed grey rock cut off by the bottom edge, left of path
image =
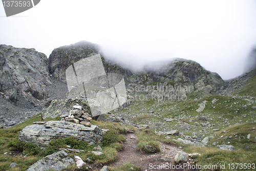
<svg viewBox="0 0 256 171"><path fill-rule="evenodd" d="M38 160L36 163L31 165L27 171L41 171L49 169L61 170L74 163L75 161L68 156L66 152L60 151Z"/></svg>

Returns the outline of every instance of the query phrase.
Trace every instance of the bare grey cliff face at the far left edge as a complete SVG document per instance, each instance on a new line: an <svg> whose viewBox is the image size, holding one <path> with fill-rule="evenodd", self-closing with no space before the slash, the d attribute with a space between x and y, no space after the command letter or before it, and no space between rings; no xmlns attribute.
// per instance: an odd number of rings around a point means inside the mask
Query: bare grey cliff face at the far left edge
<svg viewBox="0 0 256 171"><path fill-rule="evenodd" d="M22 96L30 102L44 99L49 86L47 57L35 49L0 46L0 92L17 101Z"/></svg>

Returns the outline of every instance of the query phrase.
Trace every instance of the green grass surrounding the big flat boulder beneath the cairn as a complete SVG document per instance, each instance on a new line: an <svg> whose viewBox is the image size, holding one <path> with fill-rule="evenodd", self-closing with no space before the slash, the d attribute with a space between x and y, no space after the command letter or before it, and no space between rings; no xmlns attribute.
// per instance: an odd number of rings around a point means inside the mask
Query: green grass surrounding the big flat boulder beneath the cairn
<svg viewBox="0 0 256 171"><path fill-rule="evenodd" d="M47 118L44 121L50 120L60 120L59 117L52 119ZM118 151L122 149L122 141L124 141L124 136L127 129L122 126L120 123L111 123L111 122L97 122L93 121L92 123L98 125L102 129L109 129L110 131L105 134L103 141L99 144L102 147L103 155L95 156L88 151L93 151L93 147L97 145L89 146L87 142L81 140L75 140L73 138L64 138L56 139L51 141L49 145L41 150L36 144L20 142L18 140L18 133L25 126L33 124L33 122L41 121L40 114L31 117L29 120L26 120L23 123L10 127L9 129L0 130L0 170L26 170L30 165L52 153L59 151L59 148L67 148L67 145L70 145L70 148L73 149L84 149L84 152L79 152L78 154L70 153L68 154L73 157L74 155L79 155L84 161L87 161L87 158L90 158L92 162L97 164L108 163L114 161L117 157ZM131 126L130 126L131 127ZM132 129L129 128L129 129ZM4 155L5 152L12 153L12 155ZM27 155L26 157L25 154ZM9 165L15 162L18 164L16 168L9 168Z"/></svg>

